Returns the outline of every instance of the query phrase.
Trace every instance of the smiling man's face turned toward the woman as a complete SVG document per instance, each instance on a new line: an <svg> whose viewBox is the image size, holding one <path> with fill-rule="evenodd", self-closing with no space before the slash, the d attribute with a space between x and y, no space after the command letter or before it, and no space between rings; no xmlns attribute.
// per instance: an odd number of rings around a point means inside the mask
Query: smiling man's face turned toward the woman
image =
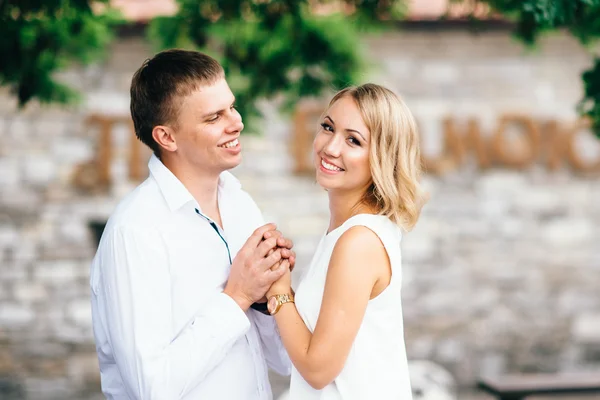
<svg viewBox="0 0 600 400"><path fill-rule="evenodd" d="M220 174L239 165L242 149L238 137L244 124L234 101L224 78L183 100L174 135L180 166Z"/></svg>

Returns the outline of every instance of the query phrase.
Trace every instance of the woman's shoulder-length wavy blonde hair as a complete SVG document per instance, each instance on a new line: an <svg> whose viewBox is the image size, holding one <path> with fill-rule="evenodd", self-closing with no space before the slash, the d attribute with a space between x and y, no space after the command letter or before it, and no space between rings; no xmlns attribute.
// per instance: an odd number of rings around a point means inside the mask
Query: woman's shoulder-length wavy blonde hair
<svg viewBox="0 0 600 400"><path fill-rule="evenodd" d="M373 183L363 202L408 231L427 201L419 182L422 164L415 119L406 104L383 86L367 83L345 88L331 99L329 107L346 96L354 99L371 132Z"/></svg>

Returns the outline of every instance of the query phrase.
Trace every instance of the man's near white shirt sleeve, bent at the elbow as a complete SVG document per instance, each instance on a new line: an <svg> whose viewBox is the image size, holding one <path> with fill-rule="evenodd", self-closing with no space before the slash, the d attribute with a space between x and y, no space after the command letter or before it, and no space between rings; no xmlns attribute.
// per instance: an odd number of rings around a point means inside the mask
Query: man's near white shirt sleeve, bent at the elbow
<svg viewBox="0 0 600 400"><path fill-rule="evenodd" d="M180 399L250 328L233 299L215 293L172 330L168 251L159 232L115 228L100 248L98 302L131 399Z"/></svg>

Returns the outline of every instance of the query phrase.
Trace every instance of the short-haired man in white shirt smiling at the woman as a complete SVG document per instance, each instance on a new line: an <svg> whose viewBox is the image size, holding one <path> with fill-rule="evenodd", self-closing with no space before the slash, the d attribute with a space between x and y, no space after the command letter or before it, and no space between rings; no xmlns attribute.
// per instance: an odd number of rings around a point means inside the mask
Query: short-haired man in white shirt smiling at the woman
<svg viewBox="0 0 600 400"><path fill-rule="evenodd" d="M293 265L227 170L244 125L222 67L198 52L146 60L131 84L150 176L116 208L91 268L109 399L271 399L291 364L272 317L251 309Z"/></svg>

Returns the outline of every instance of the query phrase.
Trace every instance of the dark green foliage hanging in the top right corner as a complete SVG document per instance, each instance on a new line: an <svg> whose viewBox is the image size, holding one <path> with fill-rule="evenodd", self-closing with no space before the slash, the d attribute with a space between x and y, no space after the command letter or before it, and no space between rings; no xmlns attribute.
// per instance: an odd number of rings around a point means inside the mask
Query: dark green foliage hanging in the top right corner
<svg viewBox="0 0 600 400"><path fill-rule="evenodd" d="M516 35L533 45L543 33L566 30L582 44L600 37L600 0L475 0L487 3L492 12L515 21ZM584 98L579 111L590 118L600 138L600 61L582 75Z"/></svg>

